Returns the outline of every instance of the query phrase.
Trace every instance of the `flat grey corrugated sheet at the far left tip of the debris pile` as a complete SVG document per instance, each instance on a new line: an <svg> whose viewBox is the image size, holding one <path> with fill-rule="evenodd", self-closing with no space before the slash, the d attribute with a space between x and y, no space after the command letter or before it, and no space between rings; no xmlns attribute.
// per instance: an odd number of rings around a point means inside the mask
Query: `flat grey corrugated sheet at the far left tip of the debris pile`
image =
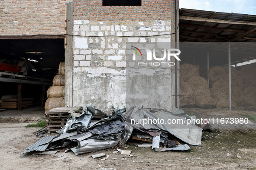
<svg viewBox="0 0 256 170"><path fill-rule="evenodd" d="M22 152L21 154L25 154L30 151L45 151L45 149L48 147L49 142L54 139L57 135L54 136L45 136L39 141L37 141L35 144L29 146L26 148L26 151Z"/></svg>

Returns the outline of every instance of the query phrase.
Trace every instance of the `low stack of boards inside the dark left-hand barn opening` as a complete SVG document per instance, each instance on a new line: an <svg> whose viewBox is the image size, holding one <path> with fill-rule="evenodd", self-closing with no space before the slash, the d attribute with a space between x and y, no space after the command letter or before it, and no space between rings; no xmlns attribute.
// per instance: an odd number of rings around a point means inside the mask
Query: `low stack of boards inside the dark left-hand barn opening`
<svg viewBox="0 0 256 170"><path fill-rule="evenodd" d="M1 109L17 109L17 99L2 99L0 102ZM21 100L21 107L32 107L33 99L32 98L23 98Z"/></svg>

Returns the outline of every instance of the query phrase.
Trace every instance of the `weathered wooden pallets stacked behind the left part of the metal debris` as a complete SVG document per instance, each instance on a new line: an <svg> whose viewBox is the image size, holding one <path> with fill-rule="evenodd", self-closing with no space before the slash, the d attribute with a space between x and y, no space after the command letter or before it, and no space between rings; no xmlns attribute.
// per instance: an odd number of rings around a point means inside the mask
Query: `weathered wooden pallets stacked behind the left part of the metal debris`
<svg viewBox="0 0 256 170"><path fill-rule="evenodd" d="M56 107L50 111L45 111L44 117L46 121L46 126L48 133L55 133L56 131L62 129L66 123L70 111L75 111L77 113L82 113L82 107ZM103 118L99 114L95 113L95 116L91 119L91 122L95 122Z"/></svg>

